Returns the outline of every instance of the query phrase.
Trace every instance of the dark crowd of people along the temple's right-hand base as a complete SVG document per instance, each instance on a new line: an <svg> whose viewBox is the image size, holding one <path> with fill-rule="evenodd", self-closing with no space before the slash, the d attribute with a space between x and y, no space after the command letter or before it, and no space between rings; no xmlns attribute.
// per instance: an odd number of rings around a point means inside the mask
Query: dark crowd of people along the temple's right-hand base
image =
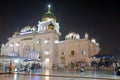
<svg viewBox="0 0 120 80"><path fill-rule="evenodd" d="M79 70L84 72L86 69L92 70L117 70L120 67L120 61L103 61L103 60L93 60L90 63L86 61L77 61L77 62L70 62L67 66L63 63L53 64L53 69L63 70Z"/></svg>

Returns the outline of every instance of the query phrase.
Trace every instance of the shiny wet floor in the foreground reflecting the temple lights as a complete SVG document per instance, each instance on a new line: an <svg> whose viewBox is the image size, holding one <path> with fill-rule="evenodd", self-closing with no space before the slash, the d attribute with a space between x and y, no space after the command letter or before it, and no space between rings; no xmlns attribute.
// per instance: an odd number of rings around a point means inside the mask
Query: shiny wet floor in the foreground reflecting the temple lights
<svg viewBox="0 0 120 80"><path fill-rule="evenodd" d="M0 74L0 80L120 80L112 71L37 70L31 73Z"/></svg>

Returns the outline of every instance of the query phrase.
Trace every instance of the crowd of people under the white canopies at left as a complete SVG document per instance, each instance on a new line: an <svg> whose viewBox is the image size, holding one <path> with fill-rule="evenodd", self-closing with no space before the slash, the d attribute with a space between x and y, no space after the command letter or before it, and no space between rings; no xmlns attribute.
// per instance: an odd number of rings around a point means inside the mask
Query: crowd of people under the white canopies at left
<svg viewBox="0 0 120 80"><path fill-rule="evenodd" d="M30 72L35 69L40 69L42 66L39 63L27 63L27 64L15 64L15 63L6 63L6 64L1 64L0 63L0 70L2 72L9 72L9 73L14 73L15 71L21 72Z"/></svg>

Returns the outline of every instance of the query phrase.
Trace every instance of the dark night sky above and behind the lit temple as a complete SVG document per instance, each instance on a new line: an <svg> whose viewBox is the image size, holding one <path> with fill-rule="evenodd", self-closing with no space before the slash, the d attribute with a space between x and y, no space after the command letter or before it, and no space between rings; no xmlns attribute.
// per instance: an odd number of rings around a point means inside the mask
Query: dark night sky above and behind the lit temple
<svg viewBox="0 0 120 80"><path fill-rule="evenodd" d="M103 53L120 48L120 9L118 2L79 0L4 0L0 2L0 44L26 25L37 26L51 4L62 33L87 32L100 44Z"/></svg>

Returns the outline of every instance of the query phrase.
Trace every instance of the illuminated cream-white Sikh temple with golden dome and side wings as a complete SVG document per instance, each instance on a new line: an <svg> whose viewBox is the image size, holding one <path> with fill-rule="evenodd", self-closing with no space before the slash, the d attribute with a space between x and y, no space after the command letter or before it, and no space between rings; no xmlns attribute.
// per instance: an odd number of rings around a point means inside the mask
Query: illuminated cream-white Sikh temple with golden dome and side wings
<svg viewBox="0 0 120 80"><path fill-rule="evenodd" d="M1 45L0 62L38 60L43 68L51 68L53 64L67 66L70 62L81 60L90 62L92 56L98 54L99 43L94 38L90 40L88 33L81 38L78 33L70 32L65 40L60 41L59 29L49 5L37 26L25 26L7 38L8 42Z"/></svg>

